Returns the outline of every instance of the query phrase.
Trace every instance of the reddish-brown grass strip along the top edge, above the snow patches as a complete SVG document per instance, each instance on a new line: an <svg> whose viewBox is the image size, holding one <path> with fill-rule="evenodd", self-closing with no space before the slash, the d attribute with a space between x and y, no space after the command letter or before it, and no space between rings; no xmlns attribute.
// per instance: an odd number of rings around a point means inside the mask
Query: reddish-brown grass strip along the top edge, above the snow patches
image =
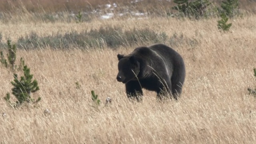
<svg viewBox="0 0 256 144"><path fill-rule="evenodd" d="M222 0L215 0L220 4ZM254 11L255 8L252 0L239 0L240 8ZM0 11L9 12L17 8L26 8L29 12L62 12L66 10L78 11L91 11L94 9L104 9L106 4L114 4L123 7L134 7L136 10L150 10L157 12L159 9L168 9L174 6L172 0L1 0Z"/></svg>

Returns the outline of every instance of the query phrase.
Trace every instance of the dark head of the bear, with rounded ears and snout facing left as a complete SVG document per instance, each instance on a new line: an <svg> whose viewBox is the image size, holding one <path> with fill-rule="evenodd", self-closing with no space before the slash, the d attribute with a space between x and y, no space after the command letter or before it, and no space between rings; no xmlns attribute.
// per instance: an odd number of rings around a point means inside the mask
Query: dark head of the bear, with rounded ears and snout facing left
<svg viewBox="0 0 256 144"><path fill-rule="evenodd" d="M118 74L116 80L118 82L127 83L130 80L135 80L140 72L140 63L135 56L124 56L118 54Z"/></svg>

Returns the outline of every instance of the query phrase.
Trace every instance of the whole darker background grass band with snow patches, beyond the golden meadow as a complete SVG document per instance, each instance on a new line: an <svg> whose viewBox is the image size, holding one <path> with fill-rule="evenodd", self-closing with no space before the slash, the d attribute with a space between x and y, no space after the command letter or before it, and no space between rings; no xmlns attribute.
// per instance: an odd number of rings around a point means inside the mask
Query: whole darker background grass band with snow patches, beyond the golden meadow
<svg viewBox="0 0 256 144"><path fill-rule="evenodd" d="M207 17L216 16L216 7L220 0L213 1L208 6ZM106 6L108 4L109 6ZM76 22L76 14L82 13L81 22L90 22L94 18L111 14L113 18L134 18L148 16L173 16L176 5L168 0L1 0L0 22ZM245 14L256 12L256 3L250 0L240 0L240 10Z"/></svg>

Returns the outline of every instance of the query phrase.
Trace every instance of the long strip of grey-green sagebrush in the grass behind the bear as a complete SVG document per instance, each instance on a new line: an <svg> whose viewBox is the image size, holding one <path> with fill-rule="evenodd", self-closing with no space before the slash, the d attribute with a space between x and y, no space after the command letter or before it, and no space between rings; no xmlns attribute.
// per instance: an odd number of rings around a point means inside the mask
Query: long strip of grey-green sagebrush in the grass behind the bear
<svg viewBox="0 0 256 144"><path fill-rule="evenodd" d="M165 42L168 36L160 34L149 28L133 28L132 30L122 30L121 27L105 26L99 29L81 30L67 32L65 34L52 34L49 36L38 36L36 32L21 36L18 39L18 46L24 49L61 48L68 49L74 46L78 48L117 48L119 46L133 46L143 42L158 43Z"/></svg>

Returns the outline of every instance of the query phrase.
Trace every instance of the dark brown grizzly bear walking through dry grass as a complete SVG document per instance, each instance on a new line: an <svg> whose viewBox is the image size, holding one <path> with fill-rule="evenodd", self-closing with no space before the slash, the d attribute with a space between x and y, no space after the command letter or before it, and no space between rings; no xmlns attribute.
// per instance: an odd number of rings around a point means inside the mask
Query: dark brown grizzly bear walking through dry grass
<svg viewBox="0 0 256 144"><path fill-rule="evenodd" d="M141 99L142 88L178 100L185 80L185 64L178 52L164 44L141 46L124 56L118 54L116 79L126 87L128 98ZM170 98L172 98L170 97Z"/></svg>

